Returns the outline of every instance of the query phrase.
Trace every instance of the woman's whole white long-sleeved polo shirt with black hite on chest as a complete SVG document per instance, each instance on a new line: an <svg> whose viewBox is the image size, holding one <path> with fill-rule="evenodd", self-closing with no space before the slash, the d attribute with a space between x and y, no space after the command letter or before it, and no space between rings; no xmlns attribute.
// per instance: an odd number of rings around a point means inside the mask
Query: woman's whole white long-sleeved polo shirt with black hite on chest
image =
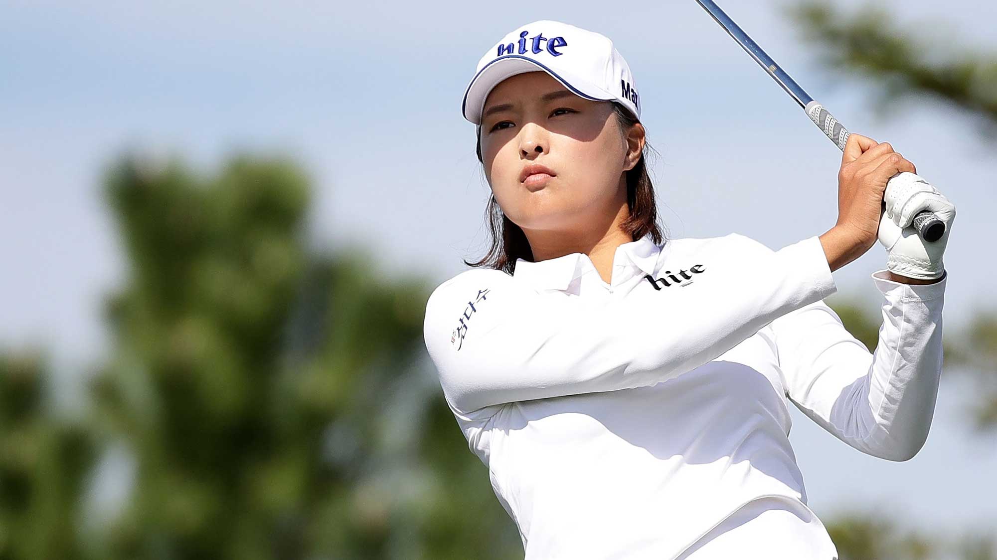
<svg viewBox="0 0 997 560"><path fill-rule="evenodd" d="M946 280L873 273L870 354L822 300L820 239L739 234L471 269L427 303L444 396L526 560L836 558L807 506L788 402L849 445L905 460L941 369Z"/></svg>

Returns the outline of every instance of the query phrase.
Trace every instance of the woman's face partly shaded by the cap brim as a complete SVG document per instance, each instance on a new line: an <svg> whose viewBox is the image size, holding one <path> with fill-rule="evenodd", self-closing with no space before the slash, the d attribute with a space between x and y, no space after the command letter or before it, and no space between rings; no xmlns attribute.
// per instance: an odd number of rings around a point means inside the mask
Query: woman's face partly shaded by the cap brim
<svg viewBox="0 0 997 560"><path fill-rule="evenodd" d="M508 107L490 113L497 106ZM522 229L577 229L626 203L623 173L636 159L628 157L612 103L580 98L545 72L527 72L499 83L483 116L485 174L502 211ZM519 180L534 163L554 176L543 184Z"/></svg>

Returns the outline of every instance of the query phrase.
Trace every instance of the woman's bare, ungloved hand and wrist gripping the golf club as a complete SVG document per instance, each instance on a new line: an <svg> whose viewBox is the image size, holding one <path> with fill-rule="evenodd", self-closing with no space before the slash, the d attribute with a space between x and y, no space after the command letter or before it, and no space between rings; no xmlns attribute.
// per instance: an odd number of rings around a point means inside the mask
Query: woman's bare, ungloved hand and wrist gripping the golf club
<svg viewBox="0 0 997 560"><path fill-rule="evenodd" d="M916 173L917 169L893 151L889 142L848 136L837 173L837 222L821 236L832 271L875 244L886 183L902 171Z"/></svg>

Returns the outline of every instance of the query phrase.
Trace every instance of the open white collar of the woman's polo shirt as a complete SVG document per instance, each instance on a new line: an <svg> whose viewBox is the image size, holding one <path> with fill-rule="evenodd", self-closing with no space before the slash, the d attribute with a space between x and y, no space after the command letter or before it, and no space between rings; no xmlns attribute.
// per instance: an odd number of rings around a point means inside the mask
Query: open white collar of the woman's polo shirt
<svg viewBox="0 0 997 560"><path fill-rule="evenodd" d="M654 243L654 239L648 233L636 241L623 243L616 247L613 264L615 266L636 266L644 273L653 276L658 257L661 254L661 247L662 245ZM581 259L582 256L585 257L584 260ZM584 264L585 261L587 264ZM515 259L512 278L536 289L566 290L572 280L587 270L594 271L594 267L591 259L584 253L571 253L540 262L530 262L519 258Z"/></svg>

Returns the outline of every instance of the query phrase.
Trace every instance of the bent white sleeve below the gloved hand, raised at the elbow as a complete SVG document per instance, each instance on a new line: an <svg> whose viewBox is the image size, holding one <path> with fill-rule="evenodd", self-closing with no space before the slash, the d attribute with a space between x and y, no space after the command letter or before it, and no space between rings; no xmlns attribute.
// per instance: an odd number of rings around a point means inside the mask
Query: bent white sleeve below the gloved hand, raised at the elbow
<svg viewBox="0 0 997 560"><path fill-rule="evenodd" d="M941 309L948 273L912 285L872 274L885 301L874 353L817 302L772 322L787 396L836 437L888 460L927 439L941 375Z"/></svg>

